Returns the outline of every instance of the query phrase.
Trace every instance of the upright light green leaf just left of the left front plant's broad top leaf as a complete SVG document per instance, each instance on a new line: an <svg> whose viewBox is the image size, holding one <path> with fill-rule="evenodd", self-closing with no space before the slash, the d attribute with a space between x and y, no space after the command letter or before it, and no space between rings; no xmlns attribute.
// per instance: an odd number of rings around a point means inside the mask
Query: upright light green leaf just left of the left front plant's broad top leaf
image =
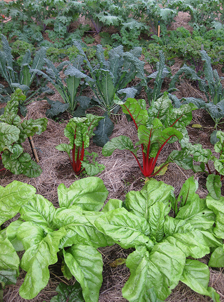
<svg viewBox="0 0 224 302"><path fill-rule="evenodd" d="M41 195L35 195L32 200L23 205L19 212L21 219L36 223L39 227L56 229L53 223L55 207Z"/></svg>

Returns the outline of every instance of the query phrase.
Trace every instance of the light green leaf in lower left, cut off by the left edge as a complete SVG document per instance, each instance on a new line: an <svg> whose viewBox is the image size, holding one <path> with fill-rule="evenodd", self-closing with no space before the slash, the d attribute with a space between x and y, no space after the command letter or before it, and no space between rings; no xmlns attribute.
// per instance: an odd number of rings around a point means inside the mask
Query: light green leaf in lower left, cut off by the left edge
<svg viewBox="0 0 224 302"><path fill-rule="evenodd" d="M12 243L0 235L0 270L16 270L19 276L19 257Z"/></svg>

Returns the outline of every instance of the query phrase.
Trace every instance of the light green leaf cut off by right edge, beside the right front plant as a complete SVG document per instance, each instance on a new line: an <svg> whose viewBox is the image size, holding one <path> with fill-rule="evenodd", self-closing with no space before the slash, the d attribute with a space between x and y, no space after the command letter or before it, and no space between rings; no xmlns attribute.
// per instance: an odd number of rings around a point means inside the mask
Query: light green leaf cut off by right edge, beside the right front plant
<svg viewBox="0 0 224 302"><path fill-rule="evenodd" d="M213 199L211 196L207 196L206 204L209 209L211 209L215 215L215 227L214 233L218 238L224 238L224 197L219 200Z"/></svg>

